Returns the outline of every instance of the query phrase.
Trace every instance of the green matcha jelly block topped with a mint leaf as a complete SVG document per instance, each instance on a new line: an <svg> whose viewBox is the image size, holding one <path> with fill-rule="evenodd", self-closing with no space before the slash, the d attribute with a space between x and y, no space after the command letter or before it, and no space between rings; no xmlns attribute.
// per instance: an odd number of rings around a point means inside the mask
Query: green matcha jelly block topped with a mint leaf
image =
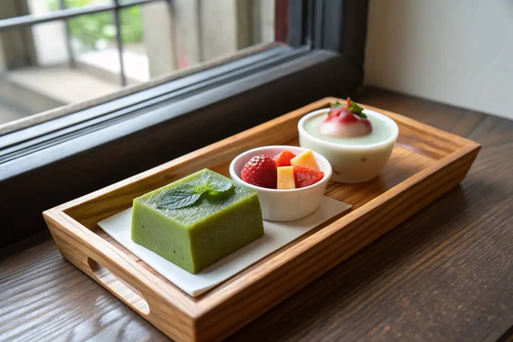
<svg viewBox="0 0 513 342"><path fill-rule="evenodd" d="M208 169L133 200L133 242L190 273L262 235L257 192Z"/></svg>

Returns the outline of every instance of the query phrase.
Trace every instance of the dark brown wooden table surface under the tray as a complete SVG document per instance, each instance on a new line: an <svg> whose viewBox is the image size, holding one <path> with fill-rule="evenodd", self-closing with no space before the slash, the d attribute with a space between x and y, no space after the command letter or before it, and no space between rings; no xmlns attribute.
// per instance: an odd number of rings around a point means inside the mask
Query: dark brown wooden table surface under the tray
<svg viewBox="0 0 513 342"><path fill-rule="evenodd" d="M513 122L377 89L356 99L482 150L459 187L228 340L508 340ZM64 260L48 233L0 258L0 340L167 339Z"/></svg>

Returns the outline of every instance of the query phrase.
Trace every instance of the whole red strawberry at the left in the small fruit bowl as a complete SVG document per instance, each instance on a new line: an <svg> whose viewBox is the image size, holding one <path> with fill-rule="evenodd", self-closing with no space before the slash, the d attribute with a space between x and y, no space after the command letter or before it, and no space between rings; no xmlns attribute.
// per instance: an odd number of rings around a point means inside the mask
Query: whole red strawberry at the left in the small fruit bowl
<svg viewBox="0 0 513 342"><path fill-rule="evenodd" d="M268 155L257 155L249 159L241 171L244 182L262 188L276 189L276 163Z"/></svg>

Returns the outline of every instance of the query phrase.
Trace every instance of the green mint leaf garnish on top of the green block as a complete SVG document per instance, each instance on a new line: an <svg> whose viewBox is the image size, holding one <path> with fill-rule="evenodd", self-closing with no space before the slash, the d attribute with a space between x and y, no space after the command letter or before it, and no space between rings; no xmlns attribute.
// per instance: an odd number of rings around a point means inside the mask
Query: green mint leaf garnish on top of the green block
<svg viewBox="0 0 513 342"><path fill-rule="evenodd" d="M233 184L228 179L211 179L203 173L199 184L184 183L161 193L156 206L160 209L181 209L191 206L202 196L210 200L222 199L231 194Z"/></svg>

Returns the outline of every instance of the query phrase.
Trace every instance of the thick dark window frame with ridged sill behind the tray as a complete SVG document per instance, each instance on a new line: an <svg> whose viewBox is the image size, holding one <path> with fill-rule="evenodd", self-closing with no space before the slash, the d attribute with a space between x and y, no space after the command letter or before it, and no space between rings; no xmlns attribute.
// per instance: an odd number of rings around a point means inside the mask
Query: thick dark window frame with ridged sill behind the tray
<svg viewBox="0 0 513 342"><path fill-rule="evenodd" d="M0 247L45 229L45 209L361 86L367 1L276 1L288 7L289 46L249 49L0 135L0 189L11 197L3 209L7 227L18 227Z"/></svg>

